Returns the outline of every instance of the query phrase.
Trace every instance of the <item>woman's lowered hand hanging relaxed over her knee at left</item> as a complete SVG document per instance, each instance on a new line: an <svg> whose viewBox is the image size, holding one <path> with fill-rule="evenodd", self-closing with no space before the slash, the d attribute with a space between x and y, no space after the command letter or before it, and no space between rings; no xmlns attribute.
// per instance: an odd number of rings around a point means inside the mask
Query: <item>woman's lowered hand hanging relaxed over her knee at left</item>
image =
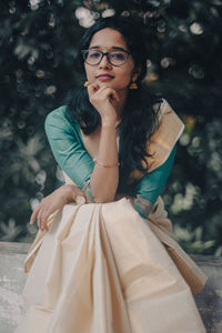
<svg viewBox="0 0 222 333"><path fill-rule="evenodd" d="M75 185L62 185L57 189L43 198L40 204L34 209L30 218L30 224L33 224L37 220L39 229L42 231L46 229L48 231L48 218L65 204L74 202L77 195L82 195L82 191Z"/></svg>

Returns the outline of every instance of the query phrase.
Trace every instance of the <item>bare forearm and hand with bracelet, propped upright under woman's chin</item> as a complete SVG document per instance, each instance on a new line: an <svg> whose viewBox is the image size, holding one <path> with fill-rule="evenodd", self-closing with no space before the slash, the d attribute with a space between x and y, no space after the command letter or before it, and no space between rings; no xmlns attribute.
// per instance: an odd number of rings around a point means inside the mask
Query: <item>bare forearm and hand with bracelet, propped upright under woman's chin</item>
<svg viewBox="0 0 222 333"><path fill-rule="evenodd" d="M88 87L89 100L101 117L101 135L97 161L90 184L95 202L114 200L118 182L117 111L113 104L120 100L117 92L103 84L91 83ZM104 165L114 165L105 168Z"/></svg>

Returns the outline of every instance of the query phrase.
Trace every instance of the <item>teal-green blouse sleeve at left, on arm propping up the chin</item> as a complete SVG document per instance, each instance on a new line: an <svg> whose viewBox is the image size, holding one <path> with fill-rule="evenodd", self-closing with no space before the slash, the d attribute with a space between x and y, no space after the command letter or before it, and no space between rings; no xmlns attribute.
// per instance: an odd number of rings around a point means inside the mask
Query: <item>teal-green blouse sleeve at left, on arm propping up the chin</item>
<svg viewBox="0 0 222 333"><path fill-rule="evenodd" d="M65 107L48 114L44 129L58 164L82 189L90 181L94 162L79 139L77 124L68 118Z"/></svg>

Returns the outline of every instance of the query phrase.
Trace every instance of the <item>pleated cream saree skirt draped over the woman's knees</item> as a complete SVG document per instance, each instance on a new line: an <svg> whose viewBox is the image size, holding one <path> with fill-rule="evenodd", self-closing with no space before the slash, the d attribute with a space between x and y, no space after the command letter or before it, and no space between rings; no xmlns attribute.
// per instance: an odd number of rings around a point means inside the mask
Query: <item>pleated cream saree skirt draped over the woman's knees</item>
<svg viewBox="0 0 222 333"><path fill-rule="evenodd" d="M65 205L38 251L16 333L205 332L189 285L127 199Z"/></svg>

